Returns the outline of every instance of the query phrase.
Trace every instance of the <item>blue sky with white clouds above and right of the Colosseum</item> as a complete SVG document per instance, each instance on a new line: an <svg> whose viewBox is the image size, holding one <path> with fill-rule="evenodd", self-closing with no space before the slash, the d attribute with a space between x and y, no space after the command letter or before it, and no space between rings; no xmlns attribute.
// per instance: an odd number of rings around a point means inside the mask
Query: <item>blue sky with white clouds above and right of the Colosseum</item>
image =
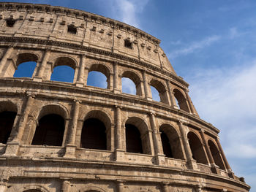
<svg viewBox="0 0 256 192"><path fill-rule="evenodd" d="M16 0L18 1L18 0ZM256 191L256 1L25 1L93 12L161 39L231 168Z"/></svg>

